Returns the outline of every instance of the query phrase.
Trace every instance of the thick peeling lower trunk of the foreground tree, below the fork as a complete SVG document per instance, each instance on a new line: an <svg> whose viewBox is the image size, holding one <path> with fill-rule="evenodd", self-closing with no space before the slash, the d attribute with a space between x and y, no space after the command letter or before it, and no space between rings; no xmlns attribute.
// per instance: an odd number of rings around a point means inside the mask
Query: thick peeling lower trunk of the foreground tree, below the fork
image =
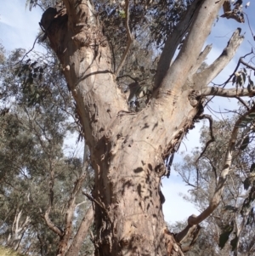
<svg viewBox="0 0 255 256"><path fill-rule="evenodd" d="M173 130L187 127L184 117L178 122L174 117L175 111L169 113L168 118L178 123ZM96 255L181 255L161 209L160 182L166 174L162 156L167 154L162 149L168 142L172 151L175 143L165 137L163 118L167 117L153 108L121 115L94 151ZM178 142L182 133L175 135Z"/></svg>

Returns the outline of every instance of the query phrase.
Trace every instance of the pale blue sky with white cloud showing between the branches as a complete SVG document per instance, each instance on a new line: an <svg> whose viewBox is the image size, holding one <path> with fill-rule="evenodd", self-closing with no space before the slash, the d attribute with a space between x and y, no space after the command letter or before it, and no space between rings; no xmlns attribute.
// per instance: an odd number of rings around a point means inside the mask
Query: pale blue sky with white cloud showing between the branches
<svg viewBox="0 0 255 256"><path fill-rule="evenodd" d="M244 1L244 4L246 1ZM39 31L38 22L41 20L42 11L41 9L26 9L26 0L0 0L0 42L6 48L7 51L11 51L14 48L26 48L29 50L37 33ZM249 15L250 23L253 26L255 3L251 0L249 9L245 9ZM254 41L247 26L245 24L239 24L235 20L226 20L219 18L218 22L212 28L212 33L207 40L207 43L212 43L213 48L211 53L208 55L207 63L212 63L229 41L232 33L237 27L241 27L242 32L245 32L246 39L239 48L235 58L230 64L224 69L224 71L215 79L214 82L222 83L228 77L229 74L235 69L237 60L247 52L250 52ZM255 32L255 31L254 31ZM39 48L36 48L37 50ZM235 109L236 101L227 99L215 99L213 100L212 108L216 111L224 109ZM191 130L184 140L184 144L190 150L195 146L199 146L199 130L201 123L196 125L196 128ZM180 151L185 151L185 146L182 144ZM175 162L181 162L181 156L175 156ZM166 197L166 202L163 205L165 219L168 222L174 222L176 220L187 219L192 213L198 213L192 204L185 202L179 193L186 193L189 187L184 185L178 174L172 171L170 179L163 179L162 191Z"/></svg>

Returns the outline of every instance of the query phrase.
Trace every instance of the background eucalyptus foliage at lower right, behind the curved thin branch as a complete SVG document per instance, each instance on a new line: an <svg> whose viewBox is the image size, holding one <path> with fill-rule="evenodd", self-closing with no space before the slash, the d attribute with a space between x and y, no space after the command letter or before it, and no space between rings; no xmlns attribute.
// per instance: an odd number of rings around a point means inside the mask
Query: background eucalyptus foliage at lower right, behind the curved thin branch
<svg viewBox="0 0 255 256"><path fill-rule="evenodd" d="M185 196L185 199L194 203L200 212L207 208L216 189L229 134L243 112L242 109L234 117L214 122L211 131L203 127L203 154L197 148L192 154L184 156L183 163L174 166L184 182L190 185L191 196ZM233 255L252 255L255 252L254 114L243 119L241 126L243 128L238 136L221 202L204 223L202 236L188 255L202 255L205 249L209 255L230 255L231 251ZM208 144L208 141L212 143Z"/></svg>

